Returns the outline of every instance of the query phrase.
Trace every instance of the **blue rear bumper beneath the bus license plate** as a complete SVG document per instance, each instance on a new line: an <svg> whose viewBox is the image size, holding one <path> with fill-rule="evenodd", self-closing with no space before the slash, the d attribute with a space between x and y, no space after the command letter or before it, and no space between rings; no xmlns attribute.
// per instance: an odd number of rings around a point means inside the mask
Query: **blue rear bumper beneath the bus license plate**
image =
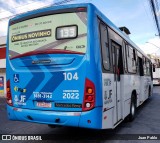
<svg viewBox="0 0 160 143"><path fill-rule="evenodd" d="M16 108L7 105L8 118L26 122L50 125L74 126L101 129L102 108L94 108L87 112L55 112Z"/></svg>

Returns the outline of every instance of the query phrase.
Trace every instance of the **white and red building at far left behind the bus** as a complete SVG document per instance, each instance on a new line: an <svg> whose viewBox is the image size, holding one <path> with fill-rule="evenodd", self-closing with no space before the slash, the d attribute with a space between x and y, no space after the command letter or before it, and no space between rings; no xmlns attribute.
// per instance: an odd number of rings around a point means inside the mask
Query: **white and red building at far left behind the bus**
<svg viewBox="0 0 160 143"><path fill-rule="evenodd" d="M6 37L0 37L0 94L6 94Z"/></svg>

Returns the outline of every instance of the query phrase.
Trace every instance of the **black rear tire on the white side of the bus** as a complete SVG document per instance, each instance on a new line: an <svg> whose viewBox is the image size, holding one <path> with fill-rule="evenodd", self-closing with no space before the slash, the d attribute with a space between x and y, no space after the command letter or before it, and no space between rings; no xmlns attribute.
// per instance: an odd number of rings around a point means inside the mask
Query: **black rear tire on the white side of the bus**
<svg viewBox="0 0 160 143"><path fill-rule="evenodd" d="M131 97L131 106L130 106L130 114L129 114L129 121L133 121L136 115L136 98L135 96Z"/></svg>

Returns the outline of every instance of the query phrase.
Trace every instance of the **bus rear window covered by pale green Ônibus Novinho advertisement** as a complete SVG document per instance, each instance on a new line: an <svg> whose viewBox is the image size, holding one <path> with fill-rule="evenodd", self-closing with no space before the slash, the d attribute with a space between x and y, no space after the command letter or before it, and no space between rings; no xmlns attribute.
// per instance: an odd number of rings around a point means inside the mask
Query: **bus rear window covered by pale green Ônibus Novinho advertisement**
<svg viewBox="0 0 160 143"><path fill-rule="evenodd" d="M9 27L10 59L43 50L67 50L85 54L86 48L86 12L47 15Z"/></svg>

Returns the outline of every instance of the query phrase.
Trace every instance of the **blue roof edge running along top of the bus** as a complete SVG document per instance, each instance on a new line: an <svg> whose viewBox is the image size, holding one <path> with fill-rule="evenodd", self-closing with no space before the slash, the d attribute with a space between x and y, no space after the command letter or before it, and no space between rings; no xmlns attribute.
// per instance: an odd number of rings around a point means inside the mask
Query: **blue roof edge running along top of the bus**
<svg viewBox="0 0 160 143"><path fill-rule="evenodd" d="M81 4L66 4L66 5L59 5L59 6L48 6L45 8L40 8L37 10L29 11L23 14L19 14L12 19L11 21L16 21L26 16L31 16L33 14L37 14L39 12L46 12L46 11L53 11L53 10L60 10L60 9L69 9L69 8L80 8L80 7L93 7L94 11L97 11L99 16L103 19L106 24L112 28L117 34L119 34L123 39L125 39L129 44L131 44L134 48L136 48L141 54L143 54L146 58L150 59L126 34L124 34L119 28L117 28L95 5L92 3L81 3Z"/></svg>

